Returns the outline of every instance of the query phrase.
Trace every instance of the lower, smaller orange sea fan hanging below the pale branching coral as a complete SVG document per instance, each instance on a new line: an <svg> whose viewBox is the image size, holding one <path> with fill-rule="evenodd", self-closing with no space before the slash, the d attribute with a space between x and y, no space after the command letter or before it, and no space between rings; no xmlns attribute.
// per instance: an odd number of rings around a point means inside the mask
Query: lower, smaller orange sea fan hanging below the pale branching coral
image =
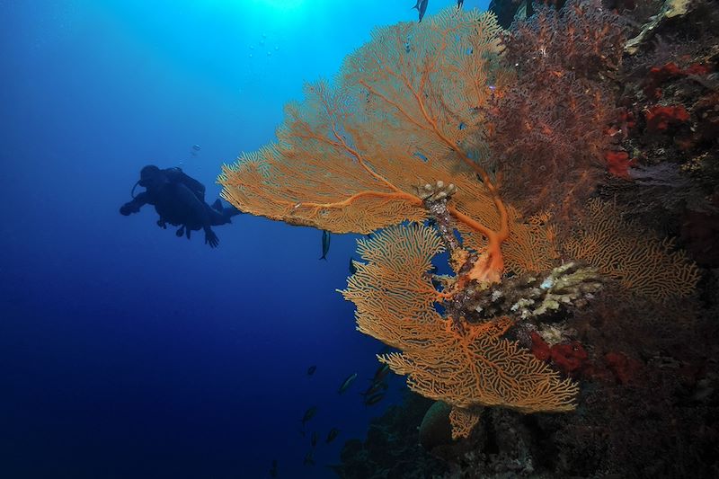
<svg viewBox="0 0 719 479"><path fill-rule="evenodd" d="M426 226L394 226L359 241L367 263L357 264L342 295L357 306L360 332L400 350L379 360L406 375L408 386L419 394L466 410L457 412L461 417L476 406L573 410L578 386L530 351L502 339L509 318L463 323L459 331L439 315L434 306L439 294L426 273L442 250L439 237ZM466 434L463 429L456 434Z"/></svg>

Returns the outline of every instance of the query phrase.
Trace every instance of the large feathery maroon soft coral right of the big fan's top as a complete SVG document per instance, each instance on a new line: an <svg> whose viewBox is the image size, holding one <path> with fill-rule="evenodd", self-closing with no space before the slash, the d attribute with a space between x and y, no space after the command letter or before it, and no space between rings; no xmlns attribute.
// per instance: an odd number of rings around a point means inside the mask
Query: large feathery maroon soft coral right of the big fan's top
<svg viewBox="0 0 719 479"><path fill-rule="evenodd" d="M621 112L608 72L622 58L624 32L599 1L570 2L560 12L538 6L504 38L517 81L495 92L486 111L502 194L527 214L550 210L571 222L607 171L608 133Z"/></svg>

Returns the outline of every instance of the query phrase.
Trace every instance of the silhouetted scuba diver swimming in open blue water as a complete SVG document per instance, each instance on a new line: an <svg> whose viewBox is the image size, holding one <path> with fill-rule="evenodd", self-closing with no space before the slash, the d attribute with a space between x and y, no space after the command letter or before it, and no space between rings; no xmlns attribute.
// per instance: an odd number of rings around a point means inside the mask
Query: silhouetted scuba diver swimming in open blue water
<svg viewBox="0 0 719 479"><path fill-rule="evenodd" d="M135 195L135 188L142 186L145 191ZM226 225L230 218L241 213L236 208L224 208L217 199L212 206L205 202L205 186L182 172L182 169L165 168L161 170L154 164L148 164L140 171L140 179L132 187L132 200L120 207L120 214L129 216L138 213L145 205L153 205L160 216L157 226L167 228L167 223L180 226L175 235L186 235L190 239L191 231L205 232L205 244L215 248L219 238L211 226Z"/></svg>

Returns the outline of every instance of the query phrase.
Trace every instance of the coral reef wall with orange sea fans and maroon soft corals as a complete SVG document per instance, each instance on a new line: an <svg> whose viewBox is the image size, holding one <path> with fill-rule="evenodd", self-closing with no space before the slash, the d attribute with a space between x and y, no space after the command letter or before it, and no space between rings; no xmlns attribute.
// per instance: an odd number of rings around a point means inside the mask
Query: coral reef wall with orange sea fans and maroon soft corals
<svg viewBox="0 0 719 479"><path fill-rule="evenodd" d="M293 225L384 228L343 294L398 350L379 359L439 402L417 438L448 477L709 477L716 5L563 4L507 31L454 6L377 29L288 104L277 142L223 168L223 196ZM432 272L442 251L448 274ZM358 476L377 444L398 457L413 439L393 421L338 472ZM363 476L386 473L373 457Z"/></svg>

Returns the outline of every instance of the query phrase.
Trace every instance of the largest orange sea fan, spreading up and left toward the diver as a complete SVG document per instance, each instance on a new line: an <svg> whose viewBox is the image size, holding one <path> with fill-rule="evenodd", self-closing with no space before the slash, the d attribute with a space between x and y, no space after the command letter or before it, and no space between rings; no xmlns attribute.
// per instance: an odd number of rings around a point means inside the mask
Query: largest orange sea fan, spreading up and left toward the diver
<svg viewBox="0 0 719 479"><path fill-rule="evenodd" d="M490 13L453 8L378 28L334 84L306 85L278 141L223 167L223 197L243 211L335 233L426 216L415 188L457 185L450 214L503 270L509 217L479 131L500 55Z"/></svg>

